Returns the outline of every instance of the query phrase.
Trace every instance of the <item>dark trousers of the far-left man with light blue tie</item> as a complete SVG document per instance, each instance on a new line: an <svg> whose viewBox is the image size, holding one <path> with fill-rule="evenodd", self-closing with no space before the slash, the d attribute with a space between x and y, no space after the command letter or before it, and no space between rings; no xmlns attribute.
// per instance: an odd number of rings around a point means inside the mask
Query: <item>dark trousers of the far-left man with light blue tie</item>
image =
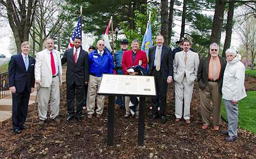
<svg viewBox="0 0 256 159"><path fill-rule="evenodd" d="M30 93L13 93L13 129L20 128L26 121Z"/></svg>

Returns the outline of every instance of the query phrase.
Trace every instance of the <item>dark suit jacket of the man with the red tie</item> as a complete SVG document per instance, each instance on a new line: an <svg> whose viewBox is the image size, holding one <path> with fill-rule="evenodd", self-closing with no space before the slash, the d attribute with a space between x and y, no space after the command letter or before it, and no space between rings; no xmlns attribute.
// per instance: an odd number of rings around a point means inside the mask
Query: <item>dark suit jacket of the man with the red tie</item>
<svg viewBox="0 0 256 159"><path fill-rule="evenodd" d="M67 62L66 82L82 85L89 79L88 52L80 48L77 63L74 60L74 49L67 49L62 58L62 64Z"/></svg>

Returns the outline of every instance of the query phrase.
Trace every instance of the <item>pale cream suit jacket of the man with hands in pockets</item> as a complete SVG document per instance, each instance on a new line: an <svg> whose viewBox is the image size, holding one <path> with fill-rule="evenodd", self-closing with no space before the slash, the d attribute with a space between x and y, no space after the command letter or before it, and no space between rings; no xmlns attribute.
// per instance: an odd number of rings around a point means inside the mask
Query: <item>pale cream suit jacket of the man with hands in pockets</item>
<svg viewBox="0 0 256 159"><path fill-rule="evenodd" d="M187 82L191 85L197 79L199 57L196 52L189 50L188 61L185 64L184 51L177 52L174 58L174 80L180 84L186 74Z"/></svg>

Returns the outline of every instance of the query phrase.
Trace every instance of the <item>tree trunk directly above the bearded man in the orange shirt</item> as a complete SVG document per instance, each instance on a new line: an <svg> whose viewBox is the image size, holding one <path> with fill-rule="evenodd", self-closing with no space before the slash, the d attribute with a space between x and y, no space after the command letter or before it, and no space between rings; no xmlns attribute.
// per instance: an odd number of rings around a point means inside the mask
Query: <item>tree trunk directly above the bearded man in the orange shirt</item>
<svg viewBox="0 0 256 159"><path fill-rule="evenodd" d="M216 0L210 43L215 42L217 44L220 44L224 9L225 9L225 0Z"/></svg>

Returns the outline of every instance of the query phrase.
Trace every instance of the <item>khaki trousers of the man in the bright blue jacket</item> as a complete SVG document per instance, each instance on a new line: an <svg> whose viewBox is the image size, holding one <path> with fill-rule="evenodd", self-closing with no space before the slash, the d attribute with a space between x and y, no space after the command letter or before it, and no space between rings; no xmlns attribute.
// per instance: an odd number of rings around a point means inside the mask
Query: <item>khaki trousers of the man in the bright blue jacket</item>
<svg viewBox="0 0 256 159"><path fill-rule="evenodd" d="M97 114L102 114L104 110L104 95L97 95L99 89L101 77L89 75L88 92L87 92L87 103L86 109L88 114L93 114L95 110L95 99L97 100Z"/></svg>

